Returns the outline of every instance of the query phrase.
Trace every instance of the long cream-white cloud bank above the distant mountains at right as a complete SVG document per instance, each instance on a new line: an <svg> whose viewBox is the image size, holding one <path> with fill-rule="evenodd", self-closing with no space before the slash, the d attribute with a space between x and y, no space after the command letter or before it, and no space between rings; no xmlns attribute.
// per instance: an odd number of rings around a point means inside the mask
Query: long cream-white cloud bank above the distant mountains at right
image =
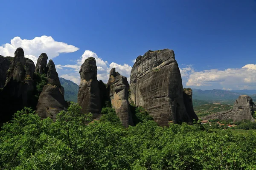
<svg viewBox="0 0 256 170"><path fill-rule="evenodd" d="M255 89L256 64L247 64L242 68L226 70L210 69L195 71L191 65L181 68L180 73L186 79L186 86L215 86L223 89ZM214 87L213 87L214 88Z"/></svg>

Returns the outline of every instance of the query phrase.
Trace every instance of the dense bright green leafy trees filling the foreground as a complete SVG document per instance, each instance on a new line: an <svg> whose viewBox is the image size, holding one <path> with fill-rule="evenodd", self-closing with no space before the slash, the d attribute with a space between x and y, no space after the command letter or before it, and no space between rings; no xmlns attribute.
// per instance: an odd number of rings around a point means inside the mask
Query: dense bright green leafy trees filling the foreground
<svg viewBox="0 0 256 170"><path fill-rule="evenodd" d="M201 130L201 125L159 127L143 112L142 122L124 128L113 110L91 121L71 103L68 111L41 120L24 108L0 131L0 169L226 170L256 168L256 134ZM111 117L111 119L108 119ZM113 118L113 119L112 119ZM114 122L112 122L114 121Z"/></svg>

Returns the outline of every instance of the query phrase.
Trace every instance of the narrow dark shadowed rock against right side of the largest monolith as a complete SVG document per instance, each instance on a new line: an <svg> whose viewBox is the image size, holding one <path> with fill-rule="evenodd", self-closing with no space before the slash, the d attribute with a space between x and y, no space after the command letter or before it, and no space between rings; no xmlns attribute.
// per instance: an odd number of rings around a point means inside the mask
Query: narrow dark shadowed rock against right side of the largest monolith
<svg viewBox="0 0 256 170"><path fill-rule="evenodd" d="M198 121L198 116L195 114L192 102L192 89L191 88L183 88L183 102L186 108L187 113L191 120Z"/></svg>

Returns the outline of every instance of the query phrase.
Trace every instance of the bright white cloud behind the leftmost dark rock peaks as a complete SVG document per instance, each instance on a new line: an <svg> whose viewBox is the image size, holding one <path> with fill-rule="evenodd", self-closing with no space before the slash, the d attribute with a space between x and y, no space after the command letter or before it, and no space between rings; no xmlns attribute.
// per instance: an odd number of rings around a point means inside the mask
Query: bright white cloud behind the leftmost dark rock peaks
<svg viewBox="0 0 256 170"><path fill-rule="evenodd" d="M36 64L41 53L46 53L49 59L59 56L61 53L72 53L79 48L74 45L68 45L64 42L55 41L52 37L41 36L33 40L25 40L20 37L14 37L11 43L0 46L0 54L3 56L14 56L15 50L21 47L24 50L25 57L32 59Z"/></svg>

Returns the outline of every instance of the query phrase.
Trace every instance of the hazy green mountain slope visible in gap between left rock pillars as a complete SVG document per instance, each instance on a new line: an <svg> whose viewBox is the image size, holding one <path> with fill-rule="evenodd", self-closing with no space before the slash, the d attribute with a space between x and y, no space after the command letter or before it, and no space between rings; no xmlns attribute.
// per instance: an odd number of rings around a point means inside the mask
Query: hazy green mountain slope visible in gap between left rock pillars
<svg viewBox="0 0 256 170"><path fill-rule="evenodd" d="M77 102L79 85L77 85L76 83L70 80L66 80L62 77L60 77L59 79L60 79L61 85L64 87L64 90L65 90L65 94L64 94L65 100L70 102Z"/></svg>

